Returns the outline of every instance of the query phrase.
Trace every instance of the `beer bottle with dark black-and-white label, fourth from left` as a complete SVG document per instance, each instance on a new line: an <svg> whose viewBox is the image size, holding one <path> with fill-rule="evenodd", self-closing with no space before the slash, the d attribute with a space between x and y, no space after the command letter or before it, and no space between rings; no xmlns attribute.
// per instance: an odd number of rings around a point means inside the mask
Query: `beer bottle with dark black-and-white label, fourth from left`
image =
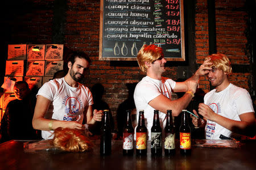
<svg viewBox="0 0 256 170"><path fill-rule="evenodd" d="M160 127L159 111L154 111L151 128L151 155L162 155L162 128Z"/></svg>

